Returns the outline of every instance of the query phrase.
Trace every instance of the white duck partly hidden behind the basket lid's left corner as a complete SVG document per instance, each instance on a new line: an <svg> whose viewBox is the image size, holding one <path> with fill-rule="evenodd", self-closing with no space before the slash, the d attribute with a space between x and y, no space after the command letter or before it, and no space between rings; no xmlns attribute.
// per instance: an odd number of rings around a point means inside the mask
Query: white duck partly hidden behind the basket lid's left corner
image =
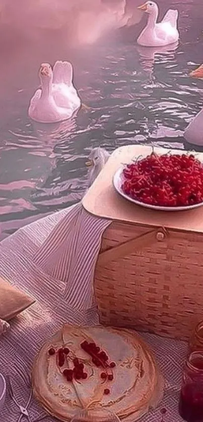
<svg viewBox="0 0 203 422"><path fill-rule="evenodd" d="M89 172L88 182L89 186L92 185L92 183L97 178L100 171L105 166L107 160L109 159L110 154L104 150L104 148L94 148L89 157L88 161L86 163L86 166L92 167Z"/></svg>

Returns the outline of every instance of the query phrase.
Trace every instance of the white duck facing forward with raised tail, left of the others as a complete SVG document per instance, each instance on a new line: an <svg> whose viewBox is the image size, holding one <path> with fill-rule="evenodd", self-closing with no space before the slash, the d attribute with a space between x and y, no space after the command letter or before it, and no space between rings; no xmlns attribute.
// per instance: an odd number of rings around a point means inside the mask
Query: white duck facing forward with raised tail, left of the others
<svg viewBox="0 0 203 422"><path fill-rule="evenodd" d="M73 86L73 67L67 61L56 61L53 71L48 63L39 70L41 88L32 97L28 114L41 123L53 123L70 119L81 106L81 100Z"/></svg>

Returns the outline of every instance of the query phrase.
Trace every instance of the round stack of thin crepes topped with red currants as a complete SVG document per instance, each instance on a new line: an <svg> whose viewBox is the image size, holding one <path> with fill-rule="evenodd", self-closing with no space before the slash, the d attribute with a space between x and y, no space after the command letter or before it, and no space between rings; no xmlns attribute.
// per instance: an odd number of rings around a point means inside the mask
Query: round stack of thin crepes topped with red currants
<svg viewBox="0 0 203 422"><path fill-rule="evenodd" d="M83 408L136 420L162 398L163 378L134 331L65 324L36 357L33 390L60 420L69 421Z"/></svg>

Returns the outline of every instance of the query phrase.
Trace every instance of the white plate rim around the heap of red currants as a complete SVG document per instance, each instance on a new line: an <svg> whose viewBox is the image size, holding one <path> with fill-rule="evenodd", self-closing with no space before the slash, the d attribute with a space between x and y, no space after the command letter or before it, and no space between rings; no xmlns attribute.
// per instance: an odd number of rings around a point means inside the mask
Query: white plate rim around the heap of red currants
<svg viewBox="0 0 203 422"><path fill-rule="evenodd" d="M196 203L194 205L185 205L185 206L158 206L158 205L150 205L148 203L140 202L137 199L131 198L129 195L123 192L121 186L124 182L123 177L123 169L125 166L120 167L113 176L113 185L117 192L123 196L123 198L127 199L130 202L136 203L137 205L144 206L145 208L157 209L159 211L185 211L186 209L193 209L198 208L199 206L203 205L203 202Z"/></svg>

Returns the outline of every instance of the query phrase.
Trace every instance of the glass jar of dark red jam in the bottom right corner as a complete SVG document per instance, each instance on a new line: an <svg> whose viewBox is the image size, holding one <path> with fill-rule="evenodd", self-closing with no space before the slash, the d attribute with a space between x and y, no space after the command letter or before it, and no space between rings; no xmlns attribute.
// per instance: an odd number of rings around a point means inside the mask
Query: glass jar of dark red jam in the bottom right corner
<svg viewBox="0 0 203 422"><path fill-rule="evenodd" d="M185 363L179 414L187 422L203 420L203 350L193 351Z"/></svg>

